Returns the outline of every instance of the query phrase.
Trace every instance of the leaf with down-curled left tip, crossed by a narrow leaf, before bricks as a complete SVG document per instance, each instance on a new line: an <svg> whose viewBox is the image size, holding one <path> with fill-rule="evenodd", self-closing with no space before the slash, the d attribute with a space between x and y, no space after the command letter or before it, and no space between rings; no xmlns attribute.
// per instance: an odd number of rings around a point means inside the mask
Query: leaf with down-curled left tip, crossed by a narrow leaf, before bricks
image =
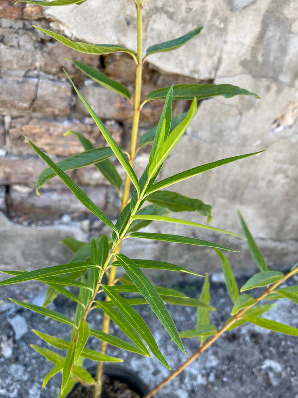
<svg viewBox="0 0 298 398"><path fill-rule="evenodd" d="M85 151L68 159L62 160L56 163L56 165L63 171L74 170L104 161L105 159L108 159L113 155L114 152L111 148L104 147L90 149L89 151ZM43 170L38 176L36 182L36 191L38 192L40 187L42 187L49 180L51 180L51 178L56 177L56 175L57 174L50 168Z"/></svg>

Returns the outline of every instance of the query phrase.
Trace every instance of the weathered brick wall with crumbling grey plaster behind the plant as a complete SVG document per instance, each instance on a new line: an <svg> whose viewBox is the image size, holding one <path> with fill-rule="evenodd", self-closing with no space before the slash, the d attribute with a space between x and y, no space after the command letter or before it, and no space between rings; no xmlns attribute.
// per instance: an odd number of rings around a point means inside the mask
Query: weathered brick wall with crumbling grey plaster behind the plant
<svg viewBox="0 0 298 398"><path fill-rule="evenodd" d="M84 133L96 145L104 145L65 78L65 68L116 141L126 147L131 127L127 103L86 79L65 58L97 67L132 89L131 60L118 55L75 53L31 24L73 39L135 48L133 4L128 0L88 0L79 7L49 7L43 12L38 6L13 6L13 2L4 0L0 4L0 209L13 221L29 225L52 224L68 214L73 221L83 223L78 227L86 234L99 233L98 223L59 180L44 186L41 198L36 196L34 184L44 165L25 143L24 135L55 161L80 150L74 136L63 137L69 129ZM211 225L215 227L240 232L239 209L268 264L287 266L298 257L297 1L147 0L144 48L178 37L199 23L204 25L203 31L186 46L148 58L144 93L172 83L215 82L244 87L258 93L261 100L235 97L201 101L195 120L162 176L268 148L263 154L205 173L173 189L211 204ZM156 124L161 113L162 102L151 103L144 107L141 134ZM175 102L174 113L186 107L187 103ZM139 172L146 159L148 152L140 152L136 161ZM110 217L117 215L116 193L94 168L72 172L71 176ZM202 222L199 215L187 216ZM69 233L73 233L71 226ZM161 227L152 225L150 230L160 231ZM162 231L179 233L181 228L163 226ZM240 248L241 254L230 257L232 265L245 271L253 268L242 242L213 234L203 236L199 230L183 232ZM136 253L135 242L124 250ZM144 244L139 255L144 256L144 250L151 257L184 263L195 270L219 266L215 255L197 248L150 243ZM9 263L7 259L1 262ZM62 260L57 258L57 262Z"/></svg>

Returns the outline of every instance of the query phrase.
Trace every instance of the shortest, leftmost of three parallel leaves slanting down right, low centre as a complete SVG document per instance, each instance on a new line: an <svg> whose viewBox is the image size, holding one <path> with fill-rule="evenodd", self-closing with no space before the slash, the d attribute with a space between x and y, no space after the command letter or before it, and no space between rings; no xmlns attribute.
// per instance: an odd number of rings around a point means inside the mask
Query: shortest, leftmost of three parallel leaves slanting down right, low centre
<svg viewBox="0 0 298 398"><path fill-rule="evenodd" d="M123 331L124 334L129 337L137 347L139 347L145 355L150 357L150 354L145 347L143 341L140 339L135 330L131 327L131 325L114 309L111 308L108 303L96 301L96 306L101 308L110 318L111 320Z"/></svg>

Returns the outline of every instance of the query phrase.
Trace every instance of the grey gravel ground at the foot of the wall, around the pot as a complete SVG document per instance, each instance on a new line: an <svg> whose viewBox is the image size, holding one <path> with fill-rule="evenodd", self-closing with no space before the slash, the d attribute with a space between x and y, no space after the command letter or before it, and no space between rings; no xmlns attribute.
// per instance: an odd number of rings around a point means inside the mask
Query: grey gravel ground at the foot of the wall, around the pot
<svg viewBox="0 0 298 398"><path fill-rule="evenodd" d="M201 281L172 280L172 285L191 297L199 297ZM241 286L248 277L239 281ZM213 278L216 280L215 276ZM297 283L297 281L296 281ZM50 318L18 307L8 297L41 305L45 288L36 284L11 285L0 288L0 397L1 398L56 398L59 375L53 377L41 389L44 376L53 367L29 345L46 347L31 329L37 329L57 337L69 338L70 328ZM231 302L224 284L211 283L211 304L217 311L211 320L217 327L228 318ZM63 296L55 299L52 308L68 316L74 316L74 305ZM195 326L195 309L169 307L178 330ZM144 316L156 341L162 348L168 363L177 367L198 347L197 339L184 340L186 357L170 341L167 333L145 307L138 309ZM298 327L297 306L287 300L279 300L267 317ZM90 326L100 328L101 314L94 313ZM113 332L121 332L113 327ZM90 338L88 347L98 349L99 340ZM109 348L108 354L119 356L124 366L134 370L149 387L153 387L168 374L157 360ZM246 324L222 336L213 346L196 359L179 377L166 385L156 398L298 398L297 375L298 345L292 336L275 334L254 325ZM86 361L86 366L94 363Z"/></svg>

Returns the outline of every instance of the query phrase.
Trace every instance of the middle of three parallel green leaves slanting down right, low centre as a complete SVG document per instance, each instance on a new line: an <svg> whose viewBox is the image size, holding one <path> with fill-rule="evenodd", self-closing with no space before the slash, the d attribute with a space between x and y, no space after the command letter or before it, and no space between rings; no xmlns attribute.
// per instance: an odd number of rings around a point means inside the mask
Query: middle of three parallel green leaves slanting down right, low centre
<svg viewBox="0 0 298 398"><path fill-rule="evenodd" d="M170 368L166 359L162 355L161 351L158 348L158 345L153 337L152 333L149 330L146 322L143 318L138 314L134 308L128 304L128 302L122 298L119 293L117 293L114 289L111 289L109 286L102 286L105 293L112 300L118 311L125 317L125 319L132 325L132 327L136 330L136 332L142 337L145 343L148 345L152 354L167 368Z"/></svg>

